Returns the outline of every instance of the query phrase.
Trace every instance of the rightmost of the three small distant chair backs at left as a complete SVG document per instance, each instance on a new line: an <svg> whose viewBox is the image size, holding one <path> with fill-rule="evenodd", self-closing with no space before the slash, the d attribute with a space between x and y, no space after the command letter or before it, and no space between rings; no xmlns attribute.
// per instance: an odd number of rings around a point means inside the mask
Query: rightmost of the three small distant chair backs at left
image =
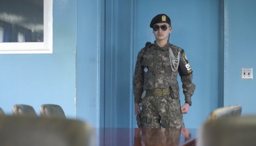
<svg viewBox="0 0 256 146"><path fill-rule="evenodd" d="M40 107L40 113L42 117L62 117L66 118L66 115L59 105L44 104Z"/></svg>

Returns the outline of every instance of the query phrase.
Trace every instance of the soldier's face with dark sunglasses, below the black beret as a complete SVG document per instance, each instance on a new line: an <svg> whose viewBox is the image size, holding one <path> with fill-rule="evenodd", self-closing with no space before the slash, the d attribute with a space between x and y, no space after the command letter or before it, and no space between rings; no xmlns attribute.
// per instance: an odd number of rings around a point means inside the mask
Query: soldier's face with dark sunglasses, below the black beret
<svg viewBox="0 0 256 146"><path fill-rule="evenodd" d="M153 25L153 33L156 37L156 40L168 39L171 32L172 27L168 23L156 23Z"/></svg>

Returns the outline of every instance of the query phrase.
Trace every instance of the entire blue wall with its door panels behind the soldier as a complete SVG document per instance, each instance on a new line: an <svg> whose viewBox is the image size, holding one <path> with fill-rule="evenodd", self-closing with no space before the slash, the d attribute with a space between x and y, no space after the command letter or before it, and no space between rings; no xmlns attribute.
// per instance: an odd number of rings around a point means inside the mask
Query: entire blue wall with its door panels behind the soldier
<svg viewBox="0 0 256 146"><path fill-rule="evenodd" d="M135 58L146 41L154 41L153 16L166 13L173 26L170 41L185 49L197 85L186 126L201 125L221 106L222 92L224 106L241 104L242 114L254 114L255 82L241 80L241 68L255 66L253 5L253 0L53 1L53 54L1 54L0 107L11 114L14 104L28 104L39 114L41 104L59 104L68 117L95 127L134 127Z"/></svg>

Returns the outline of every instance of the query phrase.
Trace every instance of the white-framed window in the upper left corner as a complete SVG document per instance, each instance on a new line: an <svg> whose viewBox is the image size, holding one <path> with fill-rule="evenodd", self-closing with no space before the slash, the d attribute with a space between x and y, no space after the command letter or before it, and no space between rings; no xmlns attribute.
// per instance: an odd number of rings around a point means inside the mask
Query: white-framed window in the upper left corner
<svg viewBox="0 0 256 146"><path fill-rule="evenodd" d="M0 54L52 53L52 3L1 0Z"/></svg>

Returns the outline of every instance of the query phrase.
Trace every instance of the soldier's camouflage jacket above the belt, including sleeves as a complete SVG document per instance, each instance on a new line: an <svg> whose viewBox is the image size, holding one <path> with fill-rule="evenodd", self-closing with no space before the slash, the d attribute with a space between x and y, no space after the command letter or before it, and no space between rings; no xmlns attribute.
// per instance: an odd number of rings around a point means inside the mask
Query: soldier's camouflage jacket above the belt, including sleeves
<svg viewBox="0 0 256 146"><path fill-rule="evenodd" d="M172 98L179 98L178 71L173 71L170 63L169 48L175 57L183 50L169 42L161 48L156 43L149 48L142 48L138 54L133 75L134 102L140 103L143 90L171 89ZM192 73L181 76L185 101L191 102L191 96L195 91L192 83Z"/></svg>

